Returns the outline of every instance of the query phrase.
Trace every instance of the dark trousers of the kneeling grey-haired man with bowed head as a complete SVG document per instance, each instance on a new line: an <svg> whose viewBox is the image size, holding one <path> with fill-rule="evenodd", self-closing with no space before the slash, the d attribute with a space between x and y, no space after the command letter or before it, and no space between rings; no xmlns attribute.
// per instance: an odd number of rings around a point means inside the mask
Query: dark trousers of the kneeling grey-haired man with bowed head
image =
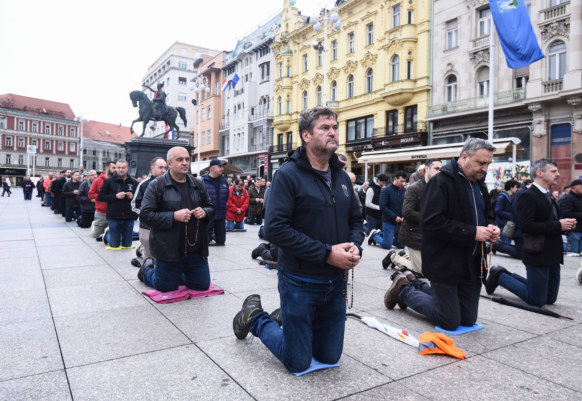
<svg viewBox="0 0 582 401"><path fill-rule="evenodd" d="M400 300L445 330L477 321L481 283L427 283L417 280L400 292Z"/></svg>

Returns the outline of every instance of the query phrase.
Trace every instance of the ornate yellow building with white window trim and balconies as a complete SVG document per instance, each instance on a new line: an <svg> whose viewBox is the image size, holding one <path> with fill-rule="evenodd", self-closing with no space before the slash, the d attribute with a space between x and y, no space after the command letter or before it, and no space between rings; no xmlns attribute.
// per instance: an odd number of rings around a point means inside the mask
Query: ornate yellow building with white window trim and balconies
<svg viewBox="0 0 582 401"><path fill-rule="evenodd" d="M430 1L339 1L342 28L328 24L328 68L314 40L324 43L309 16L285 0L281 28L271 48L274 62L272 173L286 151L300 145L299 114L322 104L327 73L327 104L338 112L340 146L350 171L363 176L357 158L365 150L427 144L424 117L430 94ZM306 12L306 14L311 14ZM368 176L404 169L416 162L370 166ZM361 177L359 177L361 180Z"/></svg>

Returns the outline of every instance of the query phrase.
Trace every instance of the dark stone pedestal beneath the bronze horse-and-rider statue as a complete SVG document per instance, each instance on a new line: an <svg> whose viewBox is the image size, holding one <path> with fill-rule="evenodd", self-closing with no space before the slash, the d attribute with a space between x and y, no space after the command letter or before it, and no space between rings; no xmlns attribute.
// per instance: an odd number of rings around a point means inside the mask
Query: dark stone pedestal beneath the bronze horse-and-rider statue
<svg viewBox="0 0 582 401"><path fill-rule="evenodd" d="M123 144L126 154L125 159L129 164L129 175L141 177L143 174L148 174L151 160L154 157L162 157L165 160L168 150L175 146L186 148L190 153L190 157L195 149L189 146L186 141L181 140L133 137Z"/></svg>

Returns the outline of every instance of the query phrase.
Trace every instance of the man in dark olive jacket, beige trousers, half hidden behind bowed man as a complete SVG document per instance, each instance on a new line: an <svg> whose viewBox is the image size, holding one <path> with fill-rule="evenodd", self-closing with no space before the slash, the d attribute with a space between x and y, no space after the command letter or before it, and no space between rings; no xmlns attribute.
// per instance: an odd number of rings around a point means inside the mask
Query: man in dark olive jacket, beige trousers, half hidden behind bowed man
<svg viewBox="0 0 582 401"><path fill-rule="evenodd" d="M398 240L408 247L412 269L423 272L423 259L420 253L423 243L423 231L420 229L420 205L424 188L432 177L441 172L441 159L428 159L424 165L424 176L408 187L404 193L402 216L404 221L400 227Z"/></svg>

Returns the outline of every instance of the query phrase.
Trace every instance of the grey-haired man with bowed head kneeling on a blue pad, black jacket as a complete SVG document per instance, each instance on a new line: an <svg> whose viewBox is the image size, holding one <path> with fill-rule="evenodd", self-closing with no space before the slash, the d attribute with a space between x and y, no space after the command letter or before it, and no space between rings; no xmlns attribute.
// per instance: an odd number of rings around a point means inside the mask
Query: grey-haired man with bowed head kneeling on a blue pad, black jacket
<svg viewBox="0 0 582 401"><path fill-rule="evenodd" d="M446 330L477 321L481 282L487 274L481 254L485 241L495 242L501 234L481 181L494 150L484 139L468 139L459 161L453 159L427 183L420 228L423 275L431 285L412 274L397 275L384 297L387 308L409 306Z"/></svg>

